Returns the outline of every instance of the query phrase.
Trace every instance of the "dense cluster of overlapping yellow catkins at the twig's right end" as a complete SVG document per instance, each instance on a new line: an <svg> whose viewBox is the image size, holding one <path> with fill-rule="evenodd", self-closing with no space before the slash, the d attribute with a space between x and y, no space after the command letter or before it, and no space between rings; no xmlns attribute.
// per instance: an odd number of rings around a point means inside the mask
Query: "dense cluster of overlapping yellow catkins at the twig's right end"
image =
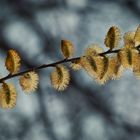
<svg viewBox="0 0 140 140"><path fill-rule="evenodd" d="M104 40L104 44L109 50L104 52L98 45L93 44L80 58L82 67L99 84L120 78L124 69L131 69L136 77L140 77L140 26L136 31L125 33L123 47L116 50L120 40L120 29L112 26Z"/></svg>

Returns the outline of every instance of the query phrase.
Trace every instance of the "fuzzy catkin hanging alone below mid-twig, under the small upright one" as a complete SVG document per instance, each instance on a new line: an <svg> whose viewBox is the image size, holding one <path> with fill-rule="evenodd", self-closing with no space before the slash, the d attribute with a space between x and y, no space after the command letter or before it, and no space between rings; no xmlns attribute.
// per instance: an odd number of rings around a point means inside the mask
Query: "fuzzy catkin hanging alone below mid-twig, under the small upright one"
<svg viewBox="0 0 140 140"><path fill-rule="evenodd" d="M63 65L57 65L55 70L50 75L52 86L58 90L65 90L70 82L70 74L66 67Z"/></svg>

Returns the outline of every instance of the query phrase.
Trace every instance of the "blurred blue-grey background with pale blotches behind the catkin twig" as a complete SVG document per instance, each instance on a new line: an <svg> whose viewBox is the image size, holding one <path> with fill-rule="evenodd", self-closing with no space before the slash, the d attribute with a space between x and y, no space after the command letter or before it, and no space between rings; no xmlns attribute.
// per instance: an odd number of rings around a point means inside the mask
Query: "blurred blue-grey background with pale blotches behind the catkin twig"
<svg viewBox="0 0 140 140"><path fill-rule="evenodd" d="M139 23L139 0L0 0L0 73L7 74L10 48L25 70L63 59L61 39L71 40L79 56L92 43L105 48L110 26L123 34ZM70 86L57 92L51 70L40 71L39 88L29 95L12 80L17 105L0 109L0 140L140 140L140 81L131 71L103 86L84 71L71 71Z"/></svg>

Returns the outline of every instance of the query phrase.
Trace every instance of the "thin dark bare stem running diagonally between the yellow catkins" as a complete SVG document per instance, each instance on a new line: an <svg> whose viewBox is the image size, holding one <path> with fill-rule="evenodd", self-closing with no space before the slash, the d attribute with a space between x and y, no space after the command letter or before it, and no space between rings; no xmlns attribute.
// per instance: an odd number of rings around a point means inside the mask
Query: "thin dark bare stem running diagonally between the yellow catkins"
<svg viewBox="0 0 140 140"><path fill-rule="evenodd" d="M139 49L139 48L140 48L140 45L136 47L136 49ZM108 51L105 51L103 53L100 53L99 55L103 56L103 55L106 55L106 54L118 53L120 50L121 49L108 50ZM0 83L3 83L5 80L11 79L11 78L14 78L14 77L17 77L17 76L21 76L21 75L23 75L23 74L25 74L27 72L38 71L40 69L44 69L44 68L48 68L48 67L55 67L58 64L67 63L67 62L73 62L73 61L78 60L80 58L81 57L79 56L79 57L70 58L70 59L63 59L63 60L60 60L60 61L57 61L57 62L54 62L54 63L43 64L41 66L33 67L31 69L28 69L28 70L25 70L25 71L22 71L22 72L19 72L19 73L16 73L16 74L8 74L7 76L5 76L5 77L0 79Z"/></svg>

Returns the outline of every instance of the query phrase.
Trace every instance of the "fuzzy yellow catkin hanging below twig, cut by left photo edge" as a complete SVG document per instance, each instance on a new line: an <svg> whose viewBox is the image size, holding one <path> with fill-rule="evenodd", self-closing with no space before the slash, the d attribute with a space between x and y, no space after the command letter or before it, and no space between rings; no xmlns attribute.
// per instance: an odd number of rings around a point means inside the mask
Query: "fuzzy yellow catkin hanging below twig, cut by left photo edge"
<svg viewBox="0 0 140 140"><path fill-rule="evenodd" d="M14 108L16 98L17 94L14 85L3 83L0 89L0 106L2 108Z"/></svg>

